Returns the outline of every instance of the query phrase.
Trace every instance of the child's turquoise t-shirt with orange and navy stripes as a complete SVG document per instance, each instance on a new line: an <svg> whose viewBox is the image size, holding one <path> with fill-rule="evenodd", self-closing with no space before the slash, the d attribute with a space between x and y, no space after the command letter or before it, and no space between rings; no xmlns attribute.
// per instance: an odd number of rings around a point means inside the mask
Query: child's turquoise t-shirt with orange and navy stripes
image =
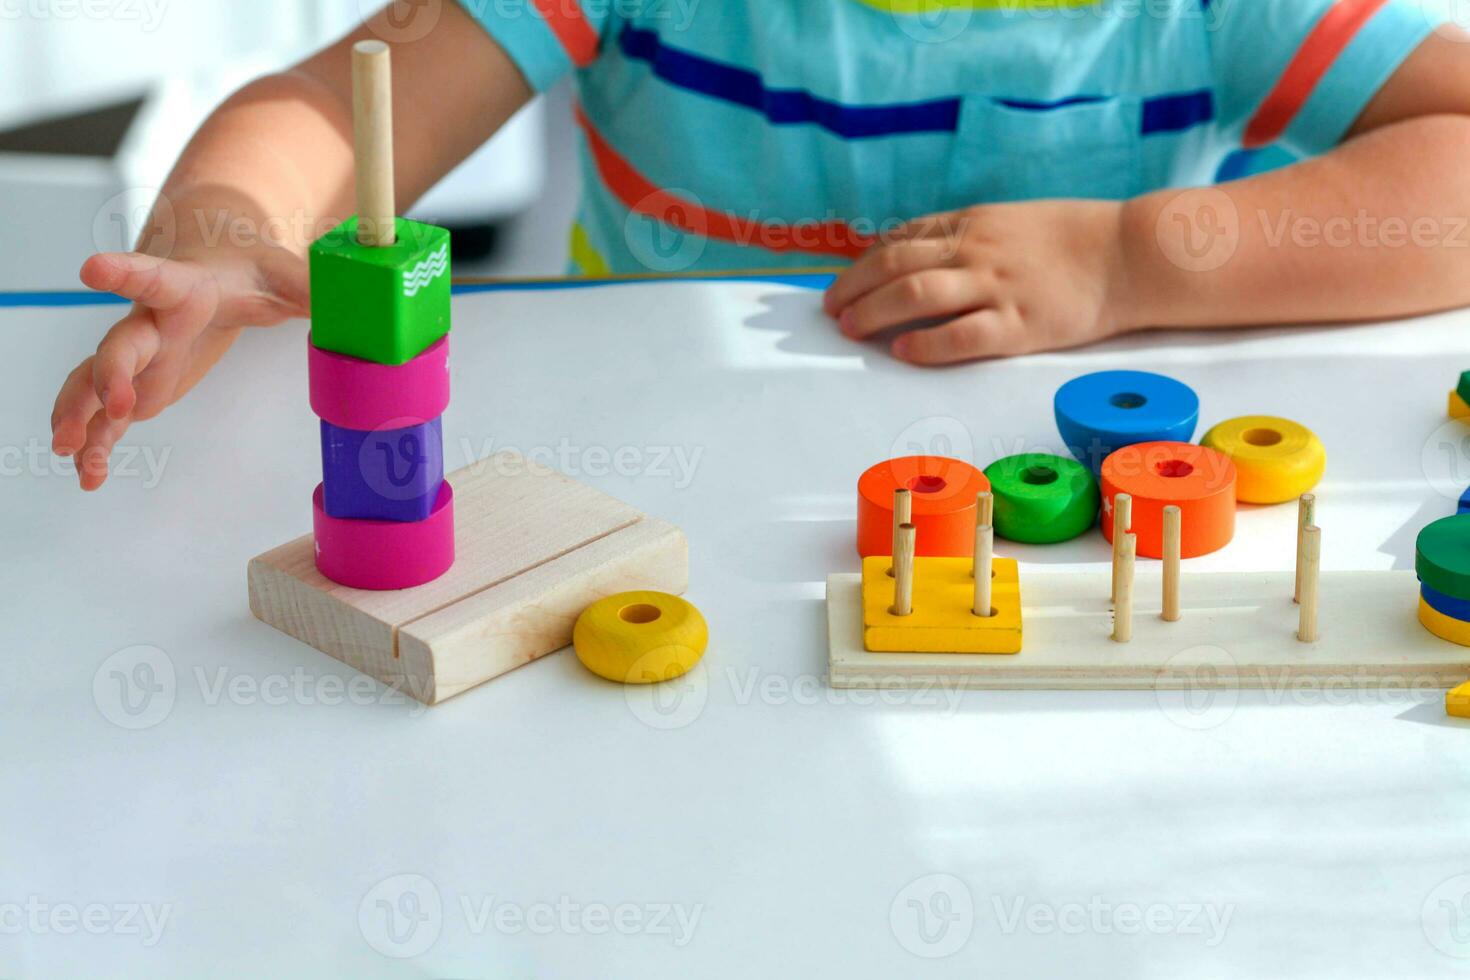
<svg viewBox="0 0 1470 980"><path fill-rule="evenodd" d="M904 219L1338 144L1419 0L460 0L576 73L584 275L833 264Z"/></svg>

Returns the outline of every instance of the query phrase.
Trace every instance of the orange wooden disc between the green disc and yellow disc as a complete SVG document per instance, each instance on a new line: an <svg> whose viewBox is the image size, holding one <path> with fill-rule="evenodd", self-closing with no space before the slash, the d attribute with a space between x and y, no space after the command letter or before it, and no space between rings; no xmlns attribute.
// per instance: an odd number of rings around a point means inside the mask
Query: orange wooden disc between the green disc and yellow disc
<svg viewBox="0 0 1470 980"><path fill-rule="evenodd" d="M1185 558L1219 551L1235 536L1235 463L1189 442L1139 442L1102 460L1102 536L1113 541L1113 498L1133 498L1138 554L1164 557L1164 507L1180 511Z"/></svg>

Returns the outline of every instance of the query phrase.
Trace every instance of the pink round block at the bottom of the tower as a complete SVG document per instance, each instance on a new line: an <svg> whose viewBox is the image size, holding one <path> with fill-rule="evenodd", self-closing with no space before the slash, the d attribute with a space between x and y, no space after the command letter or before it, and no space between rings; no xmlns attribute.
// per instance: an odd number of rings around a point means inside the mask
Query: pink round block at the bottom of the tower
<svg viewBox="0 0 1470 980"><path fill-rule="evenodd" d="M316 567L354 589L409 589L432 582L454 564L454 491L440 486L425 520L350 520L322 505L322 485L312 494Z"/></svg>

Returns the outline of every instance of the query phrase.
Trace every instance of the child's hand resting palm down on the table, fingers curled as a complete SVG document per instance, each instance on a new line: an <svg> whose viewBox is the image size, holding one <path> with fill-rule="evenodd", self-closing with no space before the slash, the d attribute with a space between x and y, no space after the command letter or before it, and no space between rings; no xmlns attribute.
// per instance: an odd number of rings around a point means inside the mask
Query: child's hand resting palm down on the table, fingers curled
<svg viewBox="0 0 1470 980"><path fill-rule="evenodd" d="M826 292L857 339L917 320L892 354L914 364L1076 347L1120 331L1122 204L986 204L910 222Z"/></svg>

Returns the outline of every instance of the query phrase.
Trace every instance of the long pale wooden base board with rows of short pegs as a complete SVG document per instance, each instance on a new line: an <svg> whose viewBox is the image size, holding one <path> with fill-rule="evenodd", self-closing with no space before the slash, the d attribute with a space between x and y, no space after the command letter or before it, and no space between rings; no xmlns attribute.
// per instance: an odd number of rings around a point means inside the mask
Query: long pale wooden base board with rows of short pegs
<svg viewBox="0 0 1470 980"><path fill-rule="evenodd" d="M828 683L833 688L1132 691L1451 688L1470 677L1470 648L1416 619L1413 572L1324 572L1322 636L1297 641L1295 574L1185 574L1183 617L1160 619L1157 576L1138 582L1133 639L1111 639L1107 572L1022 570L1020 654L875 654L863 648L861 577L828 579Z"/></svg>

